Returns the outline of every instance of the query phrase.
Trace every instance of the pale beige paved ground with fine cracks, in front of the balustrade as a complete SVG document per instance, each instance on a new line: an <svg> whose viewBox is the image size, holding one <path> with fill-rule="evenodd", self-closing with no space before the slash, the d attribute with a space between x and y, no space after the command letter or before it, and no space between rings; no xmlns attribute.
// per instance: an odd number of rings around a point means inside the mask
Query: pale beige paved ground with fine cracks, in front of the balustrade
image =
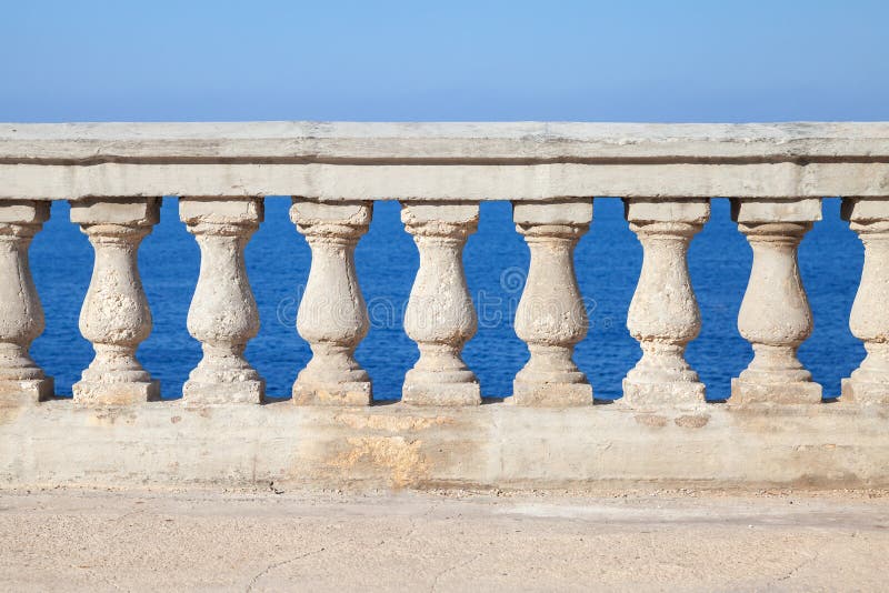
<svg viewBox="0 0 889 593"><path fill-rule="evenodd" d="M0 591L886 590L889 496L0 491Z"/></svg>

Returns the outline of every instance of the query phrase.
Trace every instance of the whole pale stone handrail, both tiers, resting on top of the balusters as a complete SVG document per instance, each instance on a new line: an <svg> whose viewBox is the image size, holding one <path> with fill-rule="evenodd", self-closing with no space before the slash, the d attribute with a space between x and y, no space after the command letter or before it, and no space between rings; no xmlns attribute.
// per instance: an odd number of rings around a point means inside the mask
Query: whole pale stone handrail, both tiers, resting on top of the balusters
<svg viewBox="0 0 889 593"><path fill-rule="evenodd" d="M0 123L0 199L889 195L889 123Z"/></svg>

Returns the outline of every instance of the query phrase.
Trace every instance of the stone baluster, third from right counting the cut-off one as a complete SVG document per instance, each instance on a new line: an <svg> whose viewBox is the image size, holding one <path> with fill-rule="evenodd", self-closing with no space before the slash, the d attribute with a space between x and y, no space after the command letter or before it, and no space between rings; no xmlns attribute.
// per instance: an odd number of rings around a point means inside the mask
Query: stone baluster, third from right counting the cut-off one
<svg viewBox="0 0 889 593"><path fill-rule="evenodd" d="M701 316L688 274L688 247L710 218L709 200L625 200L625 212L642 243L642 270L627 315L642 358L623 380L628 405L701 403L703 383L685 359Z"/></svg>

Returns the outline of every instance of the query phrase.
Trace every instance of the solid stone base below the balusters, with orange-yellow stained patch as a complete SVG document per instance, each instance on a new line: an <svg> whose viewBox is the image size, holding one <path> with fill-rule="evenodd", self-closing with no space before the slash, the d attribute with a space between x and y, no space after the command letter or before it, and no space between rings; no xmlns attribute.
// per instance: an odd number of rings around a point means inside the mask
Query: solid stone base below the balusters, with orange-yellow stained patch
<svg viewBox="0 0 889 593"><path fill-rule="evenodd" d="M888 416L887 406L851 402L96 409L53 400L0 408L0 485L887 488Z"/></svg>

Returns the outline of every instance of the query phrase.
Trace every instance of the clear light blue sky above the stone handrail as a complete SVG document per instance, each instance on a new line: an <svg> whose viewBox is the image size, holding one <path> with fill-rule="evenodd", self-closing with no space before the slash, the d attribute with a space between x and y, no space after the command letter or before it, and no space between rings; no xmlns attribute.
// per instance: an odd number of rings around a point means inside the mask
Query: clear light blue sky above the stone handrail
<svg viewBox="0 0 889 593"><path fill-rule="evenodd" d="M889 120L889 0L0 1L0 121Z"/></svg>

